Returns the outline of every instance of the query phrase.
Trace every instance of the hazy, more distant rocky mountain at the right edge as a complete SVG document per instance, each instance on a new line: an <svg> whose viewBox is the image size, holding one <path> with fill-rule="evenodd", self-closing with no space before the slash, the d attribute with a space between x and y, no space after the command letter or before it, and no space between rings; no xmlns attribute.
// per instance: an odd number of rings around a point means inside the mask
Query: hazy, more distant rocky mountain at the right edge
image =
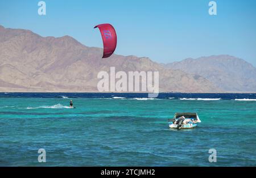
<svg viewBox="0 0 256 178"><path fill-rule="evenodd" d="M229 55L188 58L168 63L167 69L200 75L227 92L256 92L256 69L250 63Z"/></svg>

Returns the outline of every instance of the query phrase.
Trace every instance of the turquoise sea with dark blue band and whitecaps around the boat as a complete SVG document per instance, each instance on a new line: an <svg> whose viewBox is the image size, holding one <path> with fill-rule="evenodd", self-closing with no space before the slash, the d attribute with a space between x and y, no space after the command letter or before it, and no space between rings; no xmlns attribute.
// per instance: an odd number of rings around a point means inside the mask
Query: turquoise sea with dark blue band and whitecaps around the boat
<svg viewBox="0 0 256 178"><path fill-rule="evenodd" d="M256 166L256 94L146 97L0 93L0 166ZM175 112L202 122L171 130Z"/></svg>

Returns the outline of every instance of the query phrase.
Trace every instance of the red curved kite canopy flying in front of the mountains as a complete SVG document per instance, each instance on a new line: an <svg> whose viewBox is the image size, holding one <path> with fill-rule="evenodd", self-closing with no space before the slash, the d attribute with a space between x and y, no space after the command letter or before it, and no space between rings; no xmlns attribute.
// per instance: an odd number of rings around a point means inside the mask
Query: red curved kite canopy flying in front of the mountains
<svg viewBox="0 0 256 178"><path fill-rule="evenodd" d="M99 24L94 28L100 29L101 37L103 40L104 52L102 58L106 58L111 56L115 47L117 46L117 33L115 33L115 29L111 24Z"/></svg>

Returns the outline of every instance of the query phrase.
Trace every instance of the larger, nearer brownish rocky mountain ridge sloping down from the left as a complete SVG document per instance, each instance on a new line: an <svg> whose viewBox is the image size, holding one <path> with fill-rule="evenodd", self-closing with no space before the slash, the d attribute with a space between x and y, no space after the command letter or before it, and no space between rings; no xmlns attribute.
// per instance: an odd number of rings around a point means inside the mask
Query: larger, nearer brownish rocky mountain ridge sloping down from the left
<svg viewBox="0 0 256 178"><path fill-rule="evenodd" d="M113 55L70 36L42 37L0 26L0 92L97 92L100 71L159 71L162 92L222 92L197 74L166 67L146 57Z"/></svg>

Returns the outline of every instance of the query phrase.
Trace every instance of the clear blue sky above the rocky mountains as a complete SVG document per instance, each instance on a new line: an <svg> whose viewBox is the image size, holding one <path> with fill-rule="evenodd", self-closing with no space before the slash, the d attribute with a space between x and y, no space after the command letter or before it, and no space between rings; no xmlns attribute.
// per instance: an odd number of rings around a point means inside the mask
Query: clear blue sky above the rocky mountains
<svg viewBox="0 0 256 178"><path fill-rule="evenodd" d="M115 53L150 57L157 62L230 54L256 66L256 1L216 0L217 15L208 14L210 0L39 0L1 1L0 24L41 36L69 35L87 46L102 48L100 23L117 31Z"/></svg>

